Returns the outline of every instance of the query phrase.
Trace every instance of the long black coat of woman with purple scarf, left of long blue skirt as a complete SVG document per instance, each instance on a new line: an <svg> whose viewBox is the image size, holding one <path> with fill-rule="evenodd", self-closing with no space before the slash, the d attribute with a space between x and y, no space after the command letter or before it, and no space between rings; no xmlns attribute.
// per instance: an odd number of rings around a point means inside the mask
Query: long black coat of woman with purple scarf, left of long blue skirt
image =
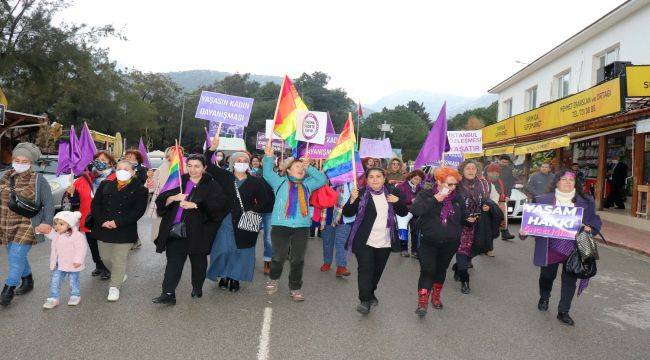
<svg viewBox="0 0 650 360"><path fill-rule="evenodd" d="M183 189L187 186L190 176L182 176ZM167 198L180 192L179 188L165 191L156 198L156 211L162 217L158 238L154 241L156 252L162 253L167 249L169 232L178 212L179 202L174 201L165 205ZM183 210L182 221L187 231L188 254L208 254L221 221L228 213L228 200L221 185L210 174L203 174L201 181L188 195L187 201L196 203L197 209Z"/></svg>

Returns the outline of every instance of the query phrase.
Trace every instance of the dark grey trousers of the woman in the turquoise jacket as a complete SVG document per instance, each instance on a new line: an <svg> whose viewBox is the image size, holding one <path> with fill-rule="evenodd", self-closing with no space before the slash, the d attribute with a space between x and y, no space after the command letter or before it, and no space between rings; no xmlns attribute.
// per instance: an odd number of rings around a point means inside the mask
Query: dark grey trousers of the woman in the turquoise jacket
<svg viewBox="0 0 650 360"><path fill-rule="evenodd" d="M307 251L307 235L309 228L290 228L274 226L271 233L273 241L273 259L271 260L271 280L282 276L284 262L289 259L289 289L300 290L302 287L302 270L305 265L305 251Z"/></svg>

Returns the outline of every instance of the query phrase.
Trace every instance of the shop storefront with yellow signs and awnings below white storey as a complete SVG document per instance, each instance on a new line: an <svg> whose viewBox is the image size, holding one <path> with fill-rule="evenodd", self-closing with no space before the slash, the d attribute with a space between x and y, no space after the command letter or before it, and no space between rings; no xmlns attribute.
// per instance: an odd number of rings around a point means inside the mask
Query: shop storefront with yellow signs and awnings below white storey
<svg viewBox="0 0 650 360"><path fill-rule="evenodd" d="M650 66L627 69L627 75L485 127L484 155L510 154L521 163L522 182L543 162L555 169L577 163L599 209L611 192L608 166L618 156L628 169L628 211L636 216L650 181Z"/></svg>

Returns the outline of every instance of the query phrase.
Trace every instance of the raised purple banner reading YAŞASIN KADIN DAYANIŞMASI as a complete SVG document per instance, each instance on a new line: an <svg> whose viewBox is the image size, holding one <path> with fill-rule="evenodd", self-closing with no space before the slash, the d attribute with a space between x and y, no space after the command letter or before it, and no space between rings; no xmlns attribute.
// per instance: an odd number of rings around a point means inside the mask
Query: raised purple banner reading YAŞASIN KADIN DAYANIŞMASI
<svg viewBox="0 0 650 360"><path fill-rule="evenodd" d="M203 91L194 117L224 124L246 126L252 109L253 99Z"/></svg>

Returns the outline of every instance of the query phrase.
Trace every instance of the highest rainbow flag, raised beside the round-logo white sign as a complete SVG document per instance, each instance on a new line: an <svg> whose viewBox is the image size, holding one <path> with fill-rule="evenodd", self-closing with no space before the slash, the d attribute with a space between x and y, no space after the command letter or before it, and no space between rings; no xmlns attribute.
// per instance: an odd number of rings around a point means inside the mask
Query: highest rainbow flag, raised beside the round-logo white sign
<svg viewBox="0 0 650 360"><path fill-rule="evenodd" d="M275 125L273 131L284 139L287 147L295 149L298 145L296 140L296 118L298 111L307 111L307 105L302 101L296 87L293 86L288 76L284 76L278 104L275 108Z"/></svg>

